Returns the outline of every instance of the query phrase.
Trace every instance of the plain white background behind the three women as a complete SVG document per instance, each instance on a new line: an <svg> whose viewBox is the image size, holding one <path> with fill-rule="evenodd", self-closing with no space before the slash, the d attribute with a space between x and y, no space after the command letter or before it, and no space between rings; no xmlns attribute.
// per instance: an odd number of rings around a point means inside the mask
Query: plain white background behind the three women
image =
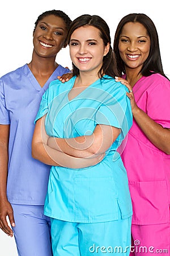
<svg viewBox="0 0 170 256"><path fill-rule="evenodd" d="M0 77L25 63L32 57L32 32L34 23L42 12L62 10L71 19L82 14L99 15L105 19L111 30L112 46L114 32L120 19L129 13L145 13L154 21L158 30L160 52L164 73L170 77L169 51L169 6L168 0L10 0L0 4ZM159 3L159 4L158 4ZM57 55L57 63L71 69L69 47ZM23 234L24 236L24 234ZM14 238L7 237L0 230L0 256L17 256ZM30 255L32 256L32 255Z"/></svg>

